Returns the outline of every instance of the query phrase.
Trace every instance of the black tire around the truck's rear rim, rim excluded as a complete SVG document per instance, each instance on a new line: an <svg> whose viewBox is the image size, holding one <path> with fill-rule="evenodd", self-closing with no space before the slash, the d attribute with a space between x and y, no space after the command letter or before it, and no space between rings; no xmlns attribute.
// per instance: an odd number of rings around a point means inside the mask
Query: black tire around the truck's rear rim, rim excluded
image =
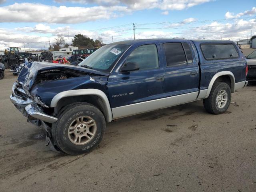
<svg viewBox="0 0 256 192"><path fill-rule="evenodd" d="M218 95L218 92L221 90L225 90L228 94L228 100L226 102L226 105L223 108L219 108L216 104L216 98ZM214 82L212 86L212 90L210 92L210 95L208 98L204 99L204 108L208 113L211 114L222 114L228 110L228 107L230 106L231 101L231 90L228 84L224 82Z"/></svg>

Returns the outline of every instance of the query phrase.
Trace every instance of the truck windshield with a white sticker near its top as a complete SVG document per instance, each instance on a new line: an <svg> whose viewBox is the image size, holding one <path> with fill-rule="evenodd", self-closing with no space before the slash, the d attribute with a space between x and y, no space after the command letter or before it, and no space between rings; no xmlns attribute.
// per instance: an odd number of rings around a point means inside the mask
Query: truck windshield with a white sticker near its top
<svg viewBox="0 0 256 192"><path fill-rule="evenodd" d="M122 44L109 44L102 46L83 60L79 66L110 72L116 61L128 49L128 47L129 45Z"/></svg>

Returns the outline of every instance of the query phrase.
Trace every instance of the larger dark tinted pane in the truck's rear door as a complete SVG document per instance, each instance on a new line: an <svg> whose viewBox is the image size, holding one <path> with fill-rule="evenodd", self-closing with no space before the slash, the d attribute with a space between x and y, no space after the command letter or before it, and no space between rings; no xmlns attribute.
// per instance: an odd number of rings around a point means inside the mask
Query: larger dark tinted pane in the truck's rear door
<svg viewBox="0 0 256 192"><path fill-rule="evenodd" d="M181 43L164 43L163 46L168 67L187 64Z"/></svg>

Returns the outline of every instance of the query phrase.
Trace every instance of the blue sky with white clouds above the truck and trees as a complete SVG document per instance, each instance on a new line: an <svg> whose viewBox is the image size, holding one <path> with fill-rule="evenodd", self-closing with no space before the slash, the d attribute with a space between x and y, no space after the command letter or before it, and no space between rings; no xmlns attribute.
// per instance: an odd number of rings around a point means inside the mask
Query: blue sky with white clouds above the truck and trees
<svg viewBox="0 0 256 192"><path fill-rule="evenodd" d="M62 34L234 40L256 35L255 0L0 0L0 50L48 49Z"/></svg>

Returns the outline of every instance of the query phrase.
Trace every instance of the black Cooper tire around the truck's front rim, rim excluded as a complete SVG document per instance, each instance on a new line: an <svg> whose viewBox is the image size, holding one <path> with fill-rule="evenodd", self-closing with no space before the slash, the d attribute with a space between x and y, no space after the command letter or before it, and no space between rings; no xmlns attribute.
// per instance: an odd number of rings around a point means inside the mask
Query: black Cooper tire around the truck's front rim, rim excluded
<svg viewBox="0 0 256 192"><path fill-rule="evenodd" d="M68 128L70 124L80 116L89 116L96 122L97 129L95 136L90 142L84 145L76 145L68 138ZM84 154L95 148L102 140L106 131L106 121L102 112L95 106L79 102L66 106L60 111L58 121L52 124L52 137L54 144L63 152L70 155Z"/></svg>

